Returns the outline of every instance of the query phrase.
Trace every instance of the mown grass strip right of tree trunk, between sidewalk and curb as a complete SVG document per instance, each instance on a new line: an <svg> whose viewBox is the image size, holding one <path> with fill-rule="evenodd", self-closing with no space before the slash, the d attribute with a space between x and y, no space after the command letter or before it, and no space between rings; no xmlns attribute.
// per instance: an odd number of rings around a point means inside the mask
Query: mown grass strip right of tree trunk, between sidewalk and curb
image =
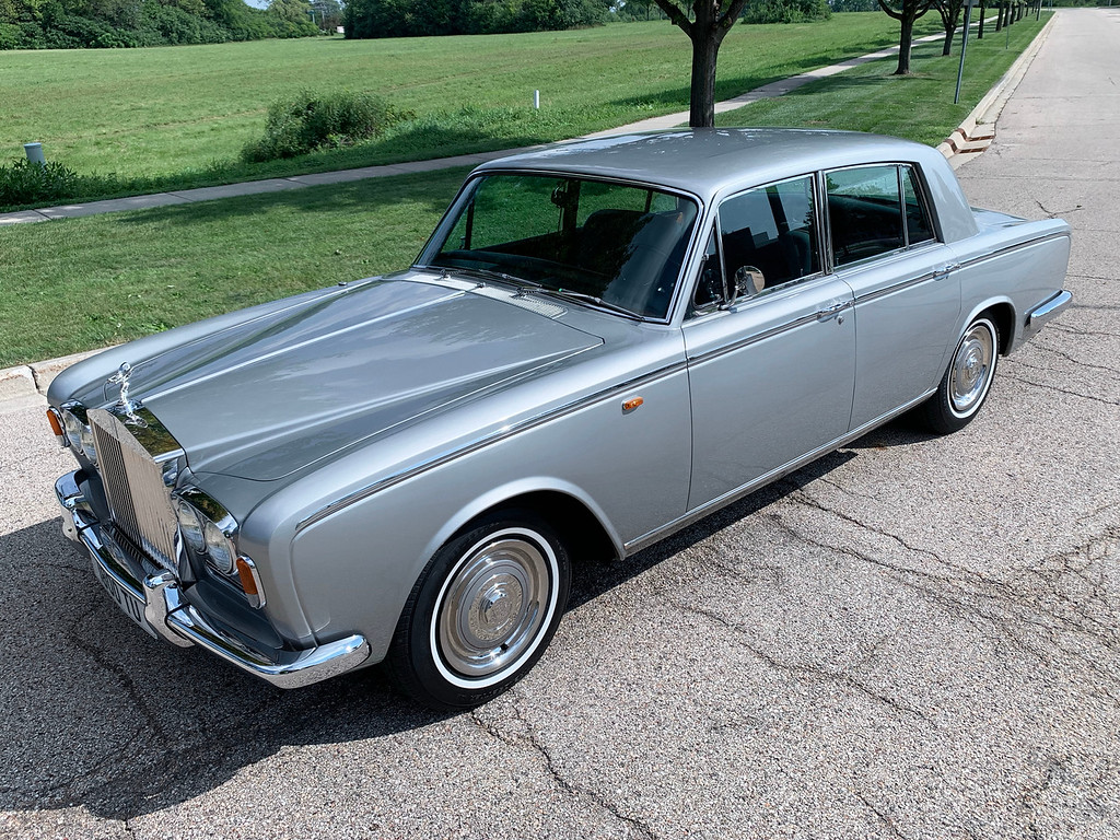
<svg viewBox="0 0 1120 840"><path fill-rule="evenodd" d="M897 59L870 62L840 76L813 82L785 96L765 100L716 118L717 125L824 127L906 137L936 146L963 122L996 81L1046 25L1025 17L1008 29L984 37L969 35L961 96L953 104L961 62L960 36L952 55L942 56L942 41L915 44L909 76L892 75Z"/></svg>

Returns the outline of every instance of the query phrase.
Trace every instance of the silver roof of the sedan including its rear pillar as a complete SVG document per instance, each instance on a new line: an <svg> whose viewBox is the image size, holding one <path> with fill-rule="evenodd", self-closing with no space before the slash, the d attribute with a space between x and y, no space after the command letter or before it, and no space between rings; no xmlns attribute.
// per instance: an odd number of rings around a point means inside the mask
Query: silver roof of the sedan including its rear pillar
<svg viewBox="0 0 1120 840"><path fill-rule="evenodd" d="M687 129L572 140L483 164L475 171L535 170L654 184L698 195L721 194L844 166L916 162L942 220L945 241L976 233L956 177L936 149L881 134L823 129ZM950 209L951 208L951 209Z"/></svg>

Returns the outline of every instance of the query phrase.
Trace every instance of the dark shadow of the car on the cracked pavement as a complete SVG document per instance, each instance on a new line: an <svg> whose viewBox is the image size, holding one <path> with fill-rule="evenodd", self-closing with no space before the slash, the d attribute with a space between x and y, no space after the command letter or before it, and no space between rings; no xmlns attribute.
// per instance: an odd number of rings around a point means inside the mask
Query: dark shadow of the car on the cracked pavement
<svg viewBox="0 0 1120 840"><path fill-rule="evenodd" d="M916 439L887 427L856 448ZM569 608L855 457L832 452L625 561L579 564ZM157 642L105 597L57 520L0 535L0 610L2 811L84 806L128 820L216 790L289 746L381 739L454 717L398 696L379 668L282 691Z"/></svg>

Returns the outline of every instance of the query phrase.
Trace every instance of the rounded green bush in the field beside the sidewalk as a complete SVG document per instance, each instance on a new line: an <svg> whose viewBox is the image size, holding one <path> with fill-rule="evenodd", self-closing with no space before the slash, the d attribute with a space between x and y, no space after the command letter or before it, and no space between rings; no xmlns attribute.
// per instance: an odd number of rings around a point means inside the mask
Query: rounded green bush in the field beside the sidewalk
<svg viewBox="0 0 1120 840"><path fill-rule="evenodd" d="M390 125L411 116L371 93L302 91L272 103L264 137L248 143L241 157L256 164L353 146L380 137Z"/></svg>

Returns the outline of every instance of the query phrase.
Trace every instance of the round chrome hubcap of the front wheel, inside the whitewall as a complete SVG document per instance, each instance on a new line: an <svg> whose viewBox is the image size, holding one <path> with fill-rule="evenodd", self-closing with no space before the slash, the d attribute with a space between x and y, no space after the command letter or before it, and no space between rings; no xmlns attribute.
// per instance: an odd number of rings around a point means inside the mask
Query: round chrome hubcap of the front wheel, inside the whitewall
<svg viewBox="0 0 1120 840"><path fill-rule="evenodd" d="M500 534L459 562L436 618L439 652L451 671L484 678L533 650L548 612L549 566L533 542Z"/></svg>

